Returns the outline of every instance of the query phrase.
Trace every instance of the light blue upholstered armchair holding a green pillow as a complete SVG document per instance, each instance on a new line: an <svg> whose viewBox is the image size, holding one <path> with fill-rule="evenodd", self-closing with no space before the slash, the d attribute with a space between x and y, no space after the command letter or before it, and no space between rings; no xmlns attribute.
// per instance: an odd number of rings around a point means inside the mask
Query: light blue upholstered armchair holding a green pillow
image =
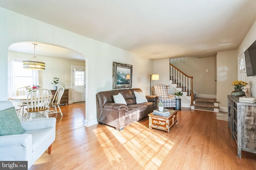
<svg viewBox="0 0 256 170"><path fill-rule="evenodd" d="M0 101L0 110L13 107L12 102ZM20 135L0 136L0 160L28 161L28 168L51 146L55 140L56 118L22 121L26 130Z"/></svg>

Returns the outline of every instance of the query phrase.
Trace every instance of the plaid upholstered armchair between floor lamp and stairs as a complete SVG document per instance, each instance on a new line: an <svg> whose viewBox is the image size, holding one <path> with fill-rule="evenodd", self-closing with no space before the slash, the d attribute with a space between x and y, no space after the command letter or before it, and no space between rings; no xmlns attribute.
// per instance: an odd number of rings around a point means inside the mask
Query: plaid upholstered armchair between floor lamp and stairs
<svg viewBox="0 0 256 170"><path fill-rule="evenodd" d="M162 102L164 107L176 107L176 98L169 94L170 86L157 84L153 86L154 96L158 96L158 102Z"/></svg>

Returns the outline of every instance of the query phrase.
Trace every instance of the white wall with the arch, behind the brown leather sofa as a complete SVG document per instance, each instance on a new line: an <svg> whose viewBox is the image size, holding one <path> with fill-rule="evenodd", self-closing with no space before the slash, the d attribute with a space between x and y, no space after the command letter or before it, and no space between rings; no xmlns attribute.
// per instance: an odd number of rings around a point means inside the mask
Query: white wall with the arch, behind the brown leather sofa
<svg viewBox="0 0 256 170"><path fill-rule="evenodd" d="M112 62L133 65L132 88L141 88L149 94L150 73L153 63L149 59L93 39L66 31L18 13L0 8L0 100L7 100L8 47L15 42L36 41L66 47L84 55L86 60L86 120L90 126L97 122L96 93L112 90Z"/></svg>

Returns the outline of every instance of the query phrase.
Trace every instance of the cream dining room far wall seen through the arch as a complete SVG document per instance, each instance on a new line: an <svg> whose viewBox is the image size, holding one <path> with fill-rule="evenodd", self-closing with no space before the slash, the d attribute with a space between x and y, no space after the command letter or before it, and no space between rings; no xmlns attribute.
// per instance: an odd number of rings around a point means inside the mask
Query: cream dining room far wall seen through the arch
<svg viewBox="0 0 256 170"><path fill-rule="evenodd" d="M31 59L33 55L26 53L18 53L14 51L8 51L8 57L16 57L22 59ZM46 64L46 68L43 71L38 71L39 76L39 86L41 88L53 89L53 77L60 78L58 87L64 86L65 89L69 89L68 100L72 102L72 65L76 66L85 66L85 61L73 61L73 60L64 60L56 59L46 56L36 55L38 59L43 61ZM28 86L32 84L28 84Z"/></svg>

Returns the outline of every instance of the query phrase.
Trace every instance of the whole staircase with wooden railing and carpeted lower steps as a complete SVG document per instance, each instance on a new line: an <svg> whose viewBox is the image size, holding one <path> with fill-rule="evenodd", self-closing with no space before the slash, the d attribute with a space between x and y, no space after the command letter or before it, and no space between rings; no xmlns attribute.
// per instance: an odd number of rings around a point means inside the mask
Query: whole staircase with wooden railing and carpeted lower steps
<svg viewBox="0 0 256 170"><path fill-rule="evenodd" d="M216 99L196 98L193 92L193 77L187 76L172 64L170 64L170 84L191 102L191 109L219 112L219 103Z"/></svg>

